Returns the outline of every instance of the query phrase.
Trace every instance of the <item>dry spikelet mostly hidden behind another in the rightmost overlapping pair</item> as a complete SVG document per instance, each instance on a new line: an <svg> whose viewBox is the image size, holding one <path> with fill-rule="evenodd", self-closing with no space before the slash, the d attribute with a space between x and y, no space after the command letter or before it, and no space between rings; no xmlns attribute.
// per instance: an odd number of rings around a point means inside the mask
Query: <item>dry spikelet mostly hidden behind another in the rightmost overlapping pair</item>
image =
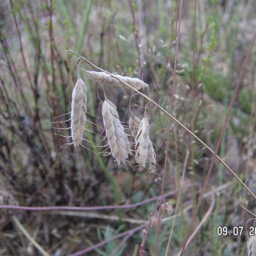
<svg viewBox="0 0 256 256"><path fill-rule="evenodd" d="M129 126L131 129L131 134L133 135L133 137L135 139L135 143L136 143L136 136L137 136L137 133L138 133L139 127L140 127L140 122L141 122L141 120L138 117L133 116L133 115L129 119ZM149 129L149 126L148 126L148 129ZM156 154L154 152L154 146L153 146L153 143L151 142L151 140L149 140L149 143L148 143L148 152L147 152L146 162L154 163L154 164L156 163Z"/></svg>

